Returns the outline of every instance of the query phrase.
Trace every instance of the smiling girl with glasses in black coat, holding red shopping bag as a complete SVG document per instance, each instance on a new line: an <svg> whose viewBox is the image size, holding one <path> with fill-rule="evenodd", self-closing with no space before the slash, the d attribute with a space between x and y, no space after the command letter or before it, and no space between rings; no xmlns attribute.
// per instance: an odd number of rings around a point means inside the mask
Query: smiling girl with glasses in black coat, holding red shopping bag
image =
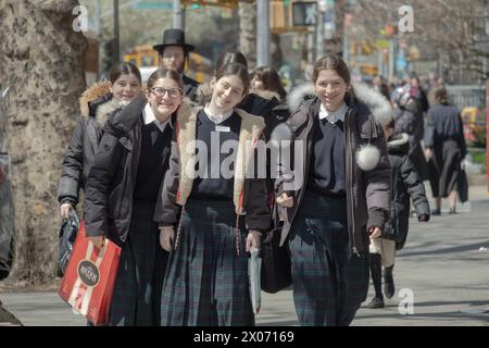
<svg viewBox="0 0 489 348"><path fill-rule="evenodd" d="M105 237L122 246L110 325L160 324L167 253L159 245L152 215L168 169L183 88L176 71L155 71L148 80L146 98L135 99L105 125L88 176L87 237L98 247Z"/></svg>

